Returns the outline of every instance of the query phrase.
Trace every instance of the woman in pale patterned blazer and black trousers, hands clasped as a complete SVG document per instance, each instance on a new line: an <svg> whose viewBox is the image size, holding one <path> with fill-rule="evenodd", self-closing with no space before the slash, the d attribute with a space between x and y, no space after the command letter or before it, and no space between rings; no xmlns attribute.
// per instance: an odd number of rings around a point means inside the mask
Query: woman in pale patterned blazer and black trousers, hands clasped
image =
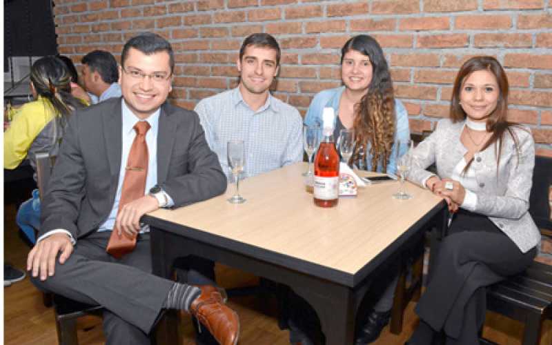
<svg viewBox="0 0 552 345"><path fill-rule="evenodd" d="M455 79L450 118L403 159L408 179L444 197L453 214L406 344L479 344L485 288L524 270L540 233L529 215L535 144L506 121L508 80L493 57L473 57ZM435 164L437 175L426 170Z"/></svg>

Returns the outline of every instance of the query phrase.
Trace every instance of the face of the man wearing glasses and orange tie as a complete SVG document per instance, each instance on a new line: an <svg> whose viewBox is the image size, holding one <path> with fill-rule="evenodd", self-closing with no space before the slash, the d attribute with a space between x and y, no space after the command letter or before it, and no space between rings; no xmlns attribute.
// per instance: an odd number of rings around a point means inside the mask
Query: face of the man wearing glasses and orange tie
<svg viewBox="0 0 552 345"><path fill-rule="evenodd" d="M145 55L130 48L123 61L124 68L119 67L119 83L126 104L140 119L146 119L166 101L172 86L168 52L155 52ZM146 75L139 77L140 74ZM166 79L155 81L152 75L166 75Z"/></svg>

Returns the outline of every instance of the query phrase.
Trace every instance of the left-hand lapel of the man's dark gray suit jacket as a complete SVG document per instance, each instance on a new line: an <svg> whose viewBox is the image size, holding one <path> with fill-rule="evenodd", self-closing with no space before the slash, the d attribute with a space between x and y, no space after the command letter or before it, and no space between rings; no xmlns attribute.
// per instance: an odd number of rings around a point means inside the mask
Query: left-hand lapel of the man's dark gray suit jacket
<svg viewBox="0 0 552 345"><path fill-rule="evenodd" d="M109 170L111 172L112 186L117 188L119 171L121 170L122 138L121 130L123 119L121 114L121 100L115 103L114 108L106 109L102 114L103 133L106 139Z"/></svg>

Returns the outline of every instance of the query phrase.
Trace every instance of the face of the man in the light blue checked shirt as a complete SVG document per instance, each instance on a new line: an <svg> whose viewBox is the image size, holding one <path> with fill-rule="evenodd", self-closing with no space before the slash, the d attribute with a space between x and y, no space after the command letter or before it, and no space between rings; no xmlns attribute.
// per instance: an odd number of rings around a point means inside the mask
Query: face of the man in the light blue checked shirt
<svg viewBox="0 0 552 345"><path fill-rule="evenodd" d="M242 92L262 95L278 74L277 51L272 48L247 46L242 60L237 61L239 88Z"/></svg>

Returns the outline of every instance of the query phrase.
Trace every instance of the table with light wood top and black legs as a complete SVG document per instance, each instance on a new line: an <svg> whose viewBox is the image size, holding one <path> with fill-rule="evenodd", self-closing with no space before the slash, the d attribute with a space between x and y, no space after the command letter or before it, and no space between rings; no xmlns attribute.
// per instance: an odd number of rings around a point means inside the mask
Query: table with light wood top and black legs
<svg viewBox="0 0 552 345"><path fill-rule="evenodd" d="M197 255L286 284L313 306L326 344L352 344L371 273L442 216L446 203L408 183L413 199L393 199L393 181L319 208L306 193L305 170L299 163L242 181L244 204L226 200L229 185L225 195L146 215L154 273L170 277L176 258Z"/></svg>

